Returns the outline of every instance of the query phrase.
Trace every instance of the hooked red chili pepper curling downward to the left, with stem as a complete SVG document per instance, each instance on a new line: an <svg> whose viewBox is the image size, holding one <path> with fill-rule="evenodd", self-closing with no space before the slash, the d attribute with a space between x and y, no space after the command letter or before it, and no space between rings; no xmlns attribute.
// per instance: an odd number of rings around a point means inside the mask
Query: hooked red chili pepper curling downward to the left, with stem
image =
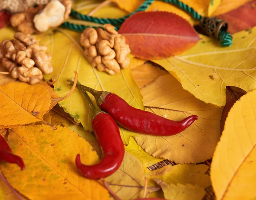
<svg viewBox="0 0 256 200"><path fill-rule="evenodd" d="M125 148L113 118L108 113L96 110L88 94L83 94L93 110L93 131L102 147L104 157L96 165L83 165L78 154L76 166L84 177L97 180L110 176L119 168L125 155Z"/></svg>

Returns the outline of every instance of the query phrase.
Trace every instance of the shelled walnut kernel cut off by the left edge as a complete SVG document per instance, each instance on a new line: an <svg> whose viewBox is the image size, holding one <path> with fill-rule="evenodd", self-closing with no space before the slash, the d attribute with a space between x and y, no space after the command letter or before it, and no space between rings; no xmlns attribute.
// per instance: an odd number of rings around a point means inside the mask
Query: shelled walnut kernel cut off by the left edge
<svg viewBox="0 0 256 200"><path fill-rule="evenodd" d="M50 74L52 56L46 52L46 46L40 46L36 38L29 34L17 32L16 40L4 40L0 44L0 61L12 75L20 81L37 84Z"/></svg>

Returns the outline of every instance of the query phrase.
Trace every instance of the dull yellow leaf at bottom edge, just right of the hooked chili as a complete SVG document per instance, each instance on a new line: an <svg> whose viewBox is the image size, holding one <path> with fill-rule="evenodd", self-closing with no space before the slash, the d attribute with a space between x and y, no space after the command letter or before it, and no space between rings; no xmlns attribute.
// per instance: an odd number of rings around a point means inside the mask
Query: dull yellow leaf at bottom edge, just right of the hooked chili
<svg viewBox="0 0 256 200"><path fill-rule="evenodd" d="M125 151L125 157L119 169L106 178L110 188L122 200L133 200L143 196L145 171L140 160ZM147 188L147 194L160 190L159 186Z"/></svg>

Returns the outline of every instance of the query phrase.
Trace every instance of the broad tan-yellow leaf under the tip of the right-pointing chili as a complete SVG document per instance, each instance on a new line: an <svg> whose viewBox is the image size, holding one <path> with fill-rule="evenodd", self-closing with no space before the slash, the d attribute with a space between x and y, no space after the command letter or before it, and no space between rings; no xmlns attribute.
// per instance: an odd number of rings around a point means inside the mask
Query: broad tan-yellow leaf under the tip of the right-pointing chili
<svg viewBox="0 0 256 200"><path fill-rule="evenodd" d="M177 135L135 136L148 154L176 163L198 163L212 157L220 138L222 108L196 99L170 74L143 87L141 94L145 109L159 116L175 121L198 116L198 120Z"/></svg>

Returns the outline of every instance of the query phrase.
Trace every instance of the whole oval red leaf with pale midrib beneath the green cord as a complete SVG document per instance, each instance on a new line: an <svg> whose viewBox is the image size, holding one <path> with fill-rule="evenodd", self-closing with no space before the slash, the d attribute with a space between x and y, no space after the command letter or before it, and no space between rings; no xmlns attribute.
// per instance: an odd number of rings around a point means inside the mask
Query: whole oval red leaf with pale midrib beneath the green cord
<svg viewBox="0 0 256 200"><path fill-rule="evenodd" d="M122 24L131 53L143 59L180 54L200 39L188 21L171 12L137 12Z"/></svg>

